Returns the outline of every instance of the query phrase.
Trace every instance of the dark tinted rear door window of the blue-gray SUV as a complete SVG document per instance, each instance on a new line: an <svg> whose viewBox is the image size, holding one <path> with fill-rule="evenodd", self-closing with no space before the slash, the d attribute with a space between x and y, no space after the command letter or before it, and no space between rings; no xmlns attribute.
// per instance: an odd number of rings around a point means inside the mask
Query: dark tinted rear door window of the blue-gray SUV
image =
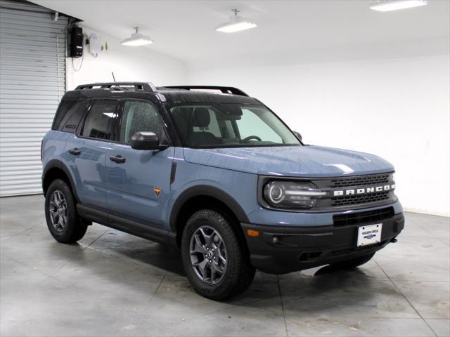
<svg viewBox="0 0 450 337"><path fill-rule="evenodd" d="M84 121L82 136L106 140L115 140L117 121L117 100L97 100L89 110Z"/></svg>

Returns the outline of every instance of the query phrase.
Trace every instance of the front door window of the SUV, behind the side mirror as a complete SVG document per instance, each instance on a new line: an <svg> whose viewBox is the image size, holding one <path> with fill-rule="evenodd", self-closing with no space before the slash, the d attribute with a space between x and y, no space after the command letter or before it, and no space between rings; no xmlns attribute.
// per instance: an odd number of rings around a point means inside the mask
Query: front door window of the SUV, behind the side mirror
<svg viewBox="0 0 450 337"><path fill-rule="evenodd" d="M164 122L153 104L137 100L125 102L122 121L120 122L120 142L129 144L134 133L150 131L163 138Z"/></svg>

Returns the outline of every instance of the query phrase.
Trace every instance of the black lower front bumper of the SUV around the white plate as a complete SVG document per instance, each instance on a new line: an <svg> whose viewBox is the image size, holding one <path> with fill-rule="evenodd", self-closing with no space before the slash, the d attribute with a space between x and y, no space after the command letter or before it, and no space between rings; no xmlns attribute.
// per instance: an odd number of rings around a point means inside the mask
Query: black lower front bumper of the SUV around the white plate
<svg viewBox="0 0 450 337"><path fill-rule="evenodd" d="M356 247L358 227L383 223L380 244ZM282 227L241 223L252 265L262 272L284 274L368 255L382 249L404 228L403 213L382 221L345 226ZM257 230L258 236L249 236Z"/></svg>

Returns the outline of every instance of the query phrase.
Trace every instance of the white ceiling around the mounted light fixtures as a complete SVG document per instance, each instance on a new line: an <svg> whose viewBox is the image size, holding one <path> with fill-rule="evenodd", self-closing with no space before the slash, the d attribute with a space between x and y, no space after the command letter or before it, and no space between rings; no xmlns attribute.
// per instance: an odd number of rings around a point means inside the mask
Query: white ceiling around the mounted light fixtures
<svg viewBox="0 0 450 337"><path fill-rule="evenodd" d="M450 1L381 13L375 0L80 1L34 0L84 20L84 27L124 39L141 27L155 44L190 67L315 62L449 53ZM231 8L259 27L219 33Z"/></svg>

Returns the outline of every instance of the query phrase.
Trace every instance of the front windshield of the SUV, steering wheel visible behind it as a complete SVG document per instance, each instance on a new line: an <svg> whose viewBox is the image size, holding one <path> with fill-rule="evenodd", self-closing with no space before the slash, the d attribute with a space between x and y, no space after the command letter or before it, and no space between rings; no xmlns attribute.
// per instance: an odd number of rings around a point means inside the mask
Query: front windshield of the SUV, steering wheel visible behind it
<svg viewBox="0 0 450 337"><path fill-rule="evenodd" d="M179 104L169 107L188 147L300 145L266 107L238 104Z"/></svg>

